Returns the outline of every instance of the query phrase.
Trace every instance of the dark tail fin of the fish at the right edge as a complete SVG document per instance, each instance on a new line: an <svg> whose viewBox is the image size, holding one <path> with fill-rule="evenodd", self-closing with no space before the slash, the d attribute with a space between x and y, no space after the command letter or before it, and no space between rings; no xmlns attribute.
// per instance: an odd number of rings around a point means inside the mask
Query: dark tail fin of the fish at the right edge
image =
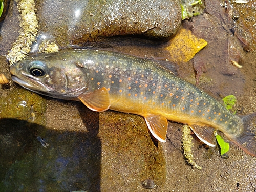
<svg viewBox="0 0 256 192"><path fill-rule="evenodd" d="M242 129L237 137L232 137L231 140L237 144L247 154L256 157L256 127L253 126L253 119L256 113L241 116Z"/></svg>

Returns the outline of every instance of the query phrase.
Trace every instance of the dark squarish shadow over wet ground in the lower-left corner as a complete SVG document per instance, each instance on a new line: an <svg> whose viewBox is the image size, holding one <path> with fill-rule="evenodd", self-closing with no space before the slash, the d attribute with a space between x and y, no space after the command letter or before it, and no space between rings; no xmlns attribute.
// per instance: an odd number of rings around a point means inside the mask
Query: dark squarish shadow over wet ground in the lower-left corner
<svg viewBox="0 0 256 192"><path fill-rule="evenodd" d="M99 191L98 127L93 126L94 133L59 132L26 121L0 119L1 190ZM44 137L47 148L37 135Z"/></svg>

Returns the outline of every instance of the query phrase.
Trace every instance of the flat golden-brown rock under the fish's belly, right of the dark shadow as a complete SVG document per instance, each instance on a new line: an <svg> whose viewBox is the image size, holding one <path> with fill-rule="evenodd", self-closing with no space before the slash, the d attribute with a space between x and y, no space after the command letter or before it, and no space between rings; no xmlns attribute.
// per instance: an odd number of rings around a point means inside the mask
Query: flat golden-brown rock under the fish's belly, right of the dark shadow
<svg viewBox="0 0 256 192"><path fill-rule="evenodd" d="M144 119L114 111L100 113L99 119L102 189L138 191L145 178L152 178L159 188L163 187L166 162L162 144L154 145ZM146 186L154 185L151 182Z"/></svg>

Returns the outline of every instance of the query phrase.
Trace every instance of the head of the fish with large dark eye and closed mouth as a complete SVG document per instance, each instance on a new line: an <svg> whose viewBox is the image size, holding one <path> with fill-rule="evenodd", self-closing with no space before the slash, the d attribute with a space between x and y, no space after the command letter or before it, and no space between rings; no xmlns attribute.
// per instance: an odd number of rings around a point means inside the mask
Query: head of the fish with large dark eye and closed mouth
<svg viewBox="0 0 256 192"><path fill-rule="evenodd" d="M12 80L20 86L54 98L77 100L88 90L83 68L51 58L29 57L10 67Z"/></svg>

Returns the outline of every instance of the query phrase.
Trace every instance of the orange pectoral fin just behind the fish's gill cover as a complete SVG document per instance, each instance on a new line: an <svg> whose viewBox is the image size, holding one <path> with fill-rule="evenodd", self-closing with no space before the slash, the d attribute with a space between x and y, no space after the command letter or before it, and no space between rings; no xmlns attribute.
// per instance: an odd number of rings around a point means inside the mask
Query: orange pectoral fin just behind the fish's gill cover
<svg viewBox="0 0 256 192"><path fill-rule="evenodd" d="M91 93L81 94L78 99L93 111L103 112L110 108L110 95L105 87Z"/></svg>

